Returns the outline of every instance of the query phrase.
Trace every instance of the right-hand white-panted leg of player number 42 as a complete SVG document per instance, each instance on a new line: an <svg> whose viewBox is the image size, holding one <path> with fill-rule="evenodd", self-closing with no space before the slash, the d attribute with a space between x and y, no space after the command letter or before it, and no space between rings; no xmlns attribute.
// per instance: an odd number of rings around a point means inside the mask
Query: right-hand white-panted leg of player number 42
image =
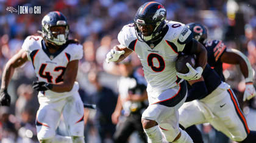
<svg viewBox="0 0 256 143"><path fill-rule="evenodd" d="M66 98L63 118L74 143L84 143L84 105L79 93Z"/></svg>

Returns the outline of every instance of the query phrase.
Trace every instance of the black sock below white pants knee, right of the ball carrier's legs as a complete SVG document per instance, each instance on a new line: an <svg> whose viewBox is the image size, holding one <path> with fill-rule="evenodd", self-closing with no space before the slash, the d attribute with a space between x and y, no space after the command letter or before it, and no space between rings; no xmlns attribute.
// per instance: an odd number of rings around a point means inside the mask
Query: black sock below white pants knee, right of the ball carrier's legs
<svg viewBox="0 0 256 143"><path fill-rule="evenodd" d="M180 125L180 128L182 128L182 130L184 130L184 127L182 125ZM193 142L204 143L204 141L202 139L202 134L198 130L196 125L191 125L190 127L186 128L185 131L188 133L188 135L190 135Z"/></svg>

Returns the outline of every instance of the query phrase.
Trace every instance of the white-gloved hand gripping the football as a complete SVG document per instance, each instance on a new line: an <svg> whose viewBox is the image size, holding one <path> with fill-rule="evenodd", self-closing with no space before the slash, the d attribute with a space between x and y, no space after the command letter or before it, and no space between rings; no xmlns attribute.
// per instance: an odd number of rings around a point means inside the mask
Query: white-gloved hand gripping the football
<svg viewBox="0 0 256 143"><path fill-rule="evenodd" d="M179 78L185 79L187 81L193 81L201 78L202 71L203 71L202 67L197 67L196 69L194 69L188 62L186 63L186 65L190 71L185 74L177 72L176 74Z"/></svg>

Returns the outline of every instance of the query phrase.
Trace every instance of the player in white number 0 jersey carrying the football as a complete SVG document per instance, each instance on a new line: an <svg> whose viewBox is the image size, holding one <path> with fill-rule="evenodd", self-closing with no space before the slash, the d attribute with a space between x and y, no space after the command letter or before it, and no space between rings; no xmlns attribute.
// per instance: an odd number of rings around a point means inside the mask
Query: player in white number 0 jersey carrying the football
<svg viewBox="0 0 256 143"><path fill-rule="evenodd" d="M193 39L184 24L166 21L166 10L158 2L141 5L134 24L123 27L118 41L121 45L116 45L107 53L106 61L122 61L133 51L140 58L148 82L150 105L141 119L148 142L162 142L160 128L169 142L193 142L179 128L178 109L187 96L183 79L201 77L207 62L204 46ZM196 68L188 64L190 71L187 74L176 73L175 61L179 52L197 55Z"/></svg>

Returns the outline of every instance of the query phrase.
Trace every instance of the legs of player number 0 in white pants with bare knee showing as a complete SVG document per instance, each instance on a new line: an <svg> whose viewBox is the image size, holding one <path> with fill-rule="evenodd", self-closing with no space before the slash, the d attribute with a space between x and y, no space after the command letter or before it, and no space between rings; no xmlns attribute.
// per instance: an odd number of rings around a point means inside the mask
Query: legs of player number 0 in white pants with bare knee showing
<svg viewBox="0 0 256 143"><path fill-rule="evenodd" d="M184 83L185 84L185 83ZM162 142L162 134L160 128L162 129L165 138L169 142L193 142L188 134L179 128L179 107L185 102L185 96L187 94L187 87L181 86L180 95L179 97L184 97L182 101L179 101L176 105L172 107L167 107L165 104L169 103L170 100L166 102L161 102L160 104L151 104L149 107L144 111L142 115L142 124L145 133L148 136L148 142ZM174 95L172 89L164 91L160 96ZM184 95L182 95L184 94ZM158 126L157 126L158 124Z"/></svg>

